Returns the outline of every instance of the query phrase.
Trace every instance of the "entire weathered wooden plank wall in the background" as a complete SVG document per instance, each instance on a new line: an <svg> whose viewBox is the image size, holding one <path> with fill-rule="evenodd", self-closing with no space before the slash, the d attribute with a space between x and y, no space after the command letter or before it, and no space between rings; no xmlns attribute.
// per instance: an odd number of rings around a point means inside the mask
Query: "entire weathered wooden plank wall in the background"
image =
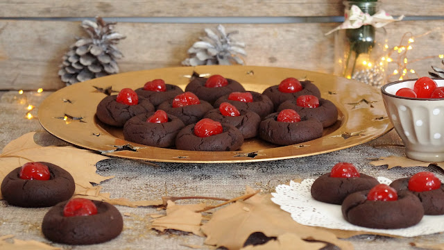
<svg viewBox="0 0 444 250"><path fill-rule="evenodd" d="M444 1L381 1L391 15L444 16ZM0 90L57 90L64 86L58 65L75 36L86 36L80 22L59 17L331 17L343 15L342 0L0 0ZM45 17L42 20L42 17ZM121 72L180 66L187 49L217 24L119 22L116 30L127 38L119 44L124 58ZM338 23L223 24L239 31L234 38L247 44L247 65L290 67L333 72L333 35L324 34ZM420 76L431 65L444 67L444 17L402 21L386 26L390 46L411 32L417 38L409 51ZM395 67L391 66L391 71ZM390 72L390 71L389 71Z"/></svg>

